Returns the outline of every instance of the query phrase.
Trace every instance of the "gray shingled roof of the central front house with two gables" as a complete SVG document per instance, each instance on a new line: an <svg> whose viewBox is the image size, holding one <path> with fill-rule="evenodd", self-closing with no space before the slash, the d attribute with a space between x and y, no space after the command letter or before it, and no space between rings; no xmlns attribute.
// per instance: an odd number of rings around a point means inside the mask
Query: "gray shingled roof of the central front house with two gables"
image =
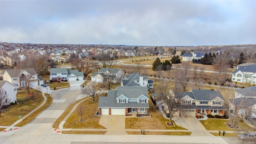
<svg viewBox="0 0 256 144"><path fill-rule="evenodd" d="M117 90L108 90L108 96L99 97L99 108L149 108L148 103L128 102L118 103L116 98L124 94L128 98L138 98L144 94L148 98L146 86L118 86Z"/></svg>

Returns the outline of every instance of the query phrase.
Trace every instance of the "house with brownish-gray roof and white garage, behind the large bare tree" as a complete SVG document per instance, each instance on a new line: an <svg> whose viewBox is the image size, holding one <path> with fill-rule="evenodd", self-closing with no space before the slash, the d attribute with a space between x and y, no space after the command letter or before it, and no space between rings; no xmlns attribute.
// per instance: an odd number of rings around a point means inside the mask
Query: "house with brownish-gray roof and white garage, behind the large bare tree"
<svg viewBox="0 0 256 144"><path fill-rule="evenodd" d="M104 80L110 80L110 82L120 84L124 71L116 68L100 68L98 72L94 72L91 75L91 80L94 82L104 82Z"/></svg>

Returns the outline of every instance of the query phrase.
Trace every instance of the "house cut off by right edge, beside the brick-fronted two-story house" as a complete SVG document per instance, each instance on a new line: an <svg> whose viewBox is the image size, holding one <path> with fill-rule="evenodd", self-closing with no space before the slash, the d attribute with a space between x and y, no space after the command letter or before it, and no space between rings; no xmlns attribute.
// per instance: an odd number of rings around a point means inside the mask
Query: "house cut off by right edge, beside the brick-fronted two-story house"
<svg viewBox="0 0 256 144"><path fill-rule="evenodd" d="M256 118L256 86L235 90L235 99L230 102L233 112Z"/></svg>

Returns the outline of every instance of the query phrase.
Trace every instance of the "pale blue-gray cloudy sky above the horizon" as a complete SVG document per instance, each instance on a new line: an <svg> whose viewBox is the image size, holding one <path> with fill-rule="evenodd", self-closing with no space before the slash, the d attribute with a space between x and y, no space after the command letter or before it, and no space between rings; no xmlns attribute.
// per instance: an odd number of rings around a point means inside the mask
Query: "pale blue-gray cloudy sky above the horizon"
<svg viewBox="0 0 256 144"><path fill-rule="evenodd" d="M0 41L146 46L256 44L256 0L0 0Z"/></svg>

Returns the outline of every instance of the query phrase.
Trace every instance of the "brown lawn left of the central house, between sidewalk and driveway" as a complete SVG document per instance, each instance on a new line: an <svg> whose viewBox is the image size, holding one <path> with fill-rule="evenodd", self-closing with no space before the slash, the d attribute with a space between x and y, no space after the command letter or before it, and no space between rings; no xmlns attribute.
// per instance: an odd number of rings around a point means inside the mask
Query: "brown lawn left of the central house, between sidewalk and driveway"
<svg viewBox="0 0 256 144"><path fill-rule="evenodd" d="M105 96L105 94L103 94ZM63 125L63 128L98 128L102 129L105 127L100 125L100 116L96 116L98 109L99 96L95 97L96 102L92 102L92 98L85 100L80 105L84 106L85 114L83 116L84 121L80 122L80 115L78 115L78 108L70 115Z"/></svg>

